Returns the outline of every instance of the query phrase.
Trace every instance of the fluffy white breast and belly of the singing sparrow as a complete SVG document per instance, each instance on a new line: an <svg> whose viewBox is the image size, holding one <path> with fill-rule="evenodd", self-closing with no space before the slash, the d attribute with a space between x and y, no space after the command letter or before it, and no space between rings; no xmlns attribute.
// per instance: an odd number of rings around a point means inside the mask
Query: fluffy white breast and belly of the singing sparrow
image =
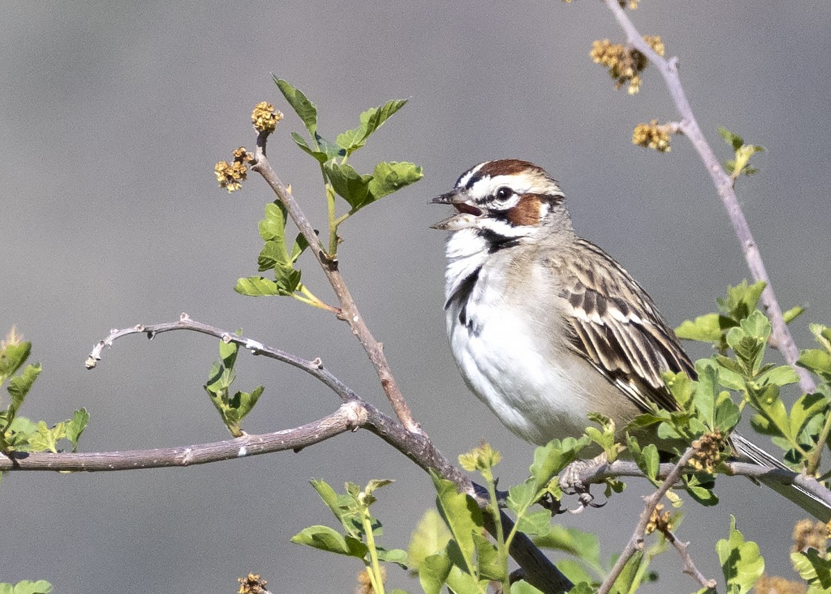
<svg viewBox="0 0 831 594"><path fill-rule="evenodd" d="M581 434L591 398L584 387L585 367L572 356L552 364L546 339L552 321L511 302L517 293L506 291L508 257L472 249L470 237L459 237L463 234L454 233L448 242L445 292L450 298L479 270L467 301L453 300L447 308L450 346L465 382L523 439L545 444Z"/></svg>

